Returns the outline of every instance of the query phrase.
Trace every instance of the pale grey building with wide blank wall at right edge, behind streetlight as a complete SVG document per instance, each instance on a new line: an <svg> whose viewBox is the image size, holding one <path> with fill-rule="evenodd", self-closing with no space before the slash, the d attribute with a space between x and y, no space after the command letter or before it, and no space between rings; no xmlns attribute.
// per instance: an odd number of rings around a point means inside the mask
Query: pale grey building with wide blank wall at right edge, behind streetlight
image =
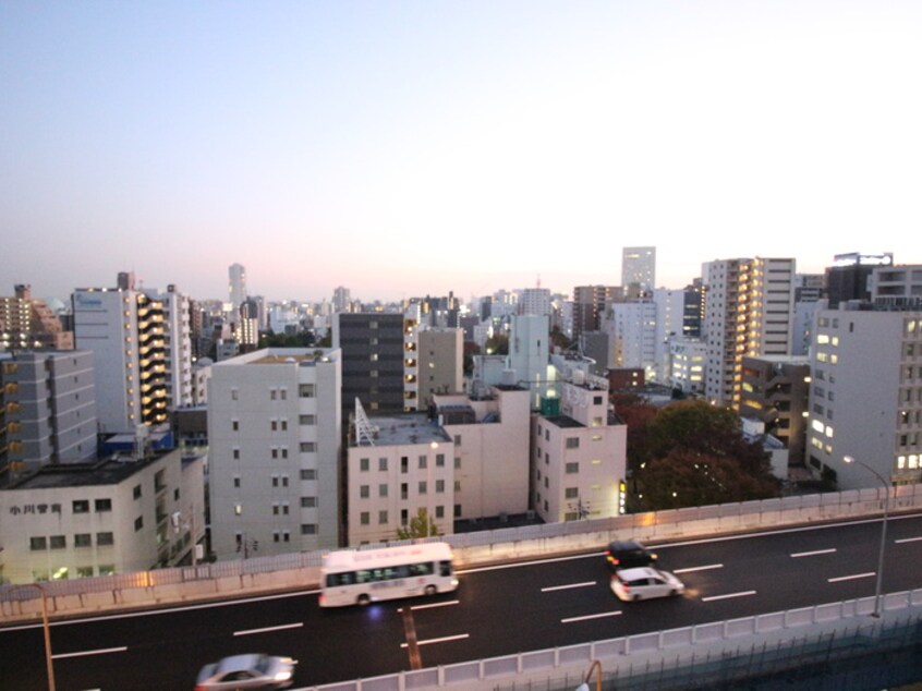
<svg viewBox="0 0 922 691"><path fill-rule="evenodd" d="M808 466L840 489L879 486L847 456L894 484L922 480L920 362L922 311L818 311Z"/></svg>

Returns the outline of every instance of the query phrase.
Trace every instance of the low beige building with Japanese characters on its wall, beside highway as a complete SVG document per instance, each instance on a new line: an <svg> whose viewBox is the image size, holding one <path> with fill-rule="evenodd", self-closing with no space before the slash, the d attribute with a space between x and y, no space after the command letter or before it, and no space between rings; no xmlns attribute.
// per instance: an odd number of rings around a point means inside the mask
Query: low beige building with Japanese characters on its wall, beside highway
<svg viewBox="0 0 922 691"><path fill-rule="evenodd" d="M205 461L180 451L45 465L0 489L0 580L190 563L205 537Z"/></svg>

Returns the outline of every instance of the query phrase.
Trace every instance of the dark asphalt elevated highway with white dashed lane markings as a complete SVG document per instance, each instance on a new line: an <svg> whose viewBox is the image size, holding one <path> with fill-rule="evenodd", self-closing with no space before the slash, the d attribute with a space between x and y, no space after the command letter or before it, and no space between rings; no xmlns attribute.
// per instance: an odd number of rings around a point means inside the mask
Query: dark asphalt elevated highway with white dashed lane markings
<svg viewBox="0 0 922 691"><path fill-rule="evenodd" d="M58 691L192 689L243 652L300 660L295 688L794 609L874 594L879 520L656 545L688 590L621 603L599 550L461 571L456 593L320 609L316 592L58 622ZM922 587L922 517L891 517L884 592ZM409 616L401 611L410 608ZM0 629L0 689L47 689L40 626Z"/></svg>

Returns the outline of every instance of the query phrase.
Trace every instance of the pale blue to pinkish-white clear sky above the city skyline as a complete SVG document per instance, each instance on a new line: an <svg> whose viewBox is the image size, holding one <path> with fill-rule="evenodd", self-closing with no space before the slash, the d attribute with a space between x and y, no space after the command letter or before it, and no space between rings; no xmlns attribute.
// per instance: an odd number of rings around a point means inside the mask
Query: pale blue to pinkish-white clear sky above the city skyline
<svg viewBox="0 0 922 691"><path fill-rule="evenodd" d="M0 0L0 294L922 264L919 0Z"/></svg>

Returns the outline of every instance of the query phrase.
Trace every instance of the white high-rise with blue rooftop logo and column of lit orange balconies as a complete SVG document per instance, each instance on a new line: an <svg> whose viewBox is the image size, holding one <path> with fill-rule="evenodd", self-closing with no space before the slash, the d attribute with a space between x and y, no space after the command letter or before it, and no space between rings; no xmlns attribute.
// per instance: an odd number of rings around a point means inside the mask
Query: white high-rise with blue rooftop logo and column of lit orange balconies
<svg viewBox="0 0 922 691"><path fill-rule="evenodd" d="M76 346L94 353L100 432L166 424L170 408L192 402L187 296L136 290L120 274L118 288L81 288L72 300Z"/></svg>

